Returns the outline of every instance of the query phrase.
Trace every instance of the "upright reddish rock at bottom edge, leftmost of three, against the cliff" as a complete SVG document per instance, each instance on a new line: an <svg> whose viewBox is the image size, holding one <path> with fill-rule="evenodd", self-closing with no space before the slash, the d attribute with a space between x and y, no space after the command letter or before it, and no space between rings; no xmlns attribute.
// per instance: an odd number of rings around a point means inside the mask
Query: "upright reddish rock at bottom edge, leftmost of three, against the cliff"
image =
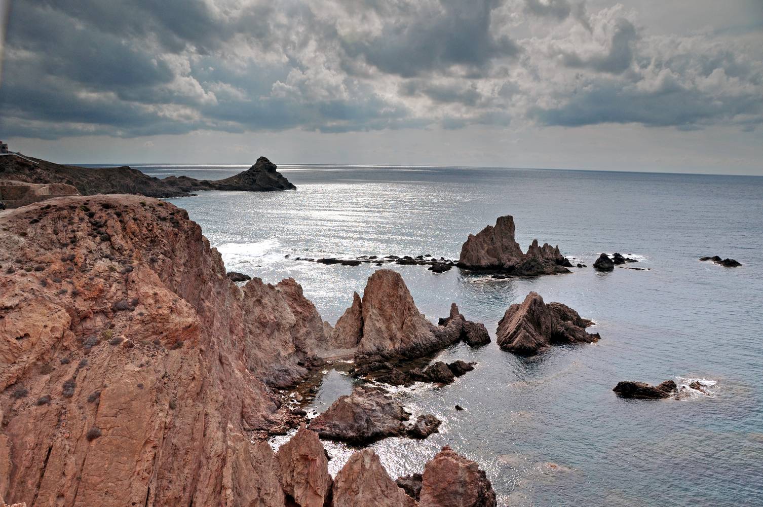
<svg viewBox="0 0 763 507"><path fill-rule="evenodd" d="M318 435L302 425L275 457L284 492L301 507L323 507L332 481Z"/></svg>

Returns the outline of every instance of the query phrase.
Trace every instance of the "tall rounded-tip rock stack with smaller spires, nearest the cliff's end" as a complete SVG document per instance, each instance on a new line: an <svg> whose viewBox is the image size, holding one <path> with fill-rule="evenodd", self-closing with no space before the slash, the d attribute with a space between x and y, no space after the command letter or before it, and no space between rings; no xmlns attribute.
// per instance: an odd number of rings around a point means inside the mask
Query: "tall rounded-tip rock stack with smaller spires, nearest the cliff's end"
<svg viewBox="0 0 763 507"><path fill-rule="evenodd" d="M469 322L454 304L449 318L433 325L419 312L397 271L377 270L330 332L328 355L354 354L356 363L382 363L424 357L460 340L490 341L483 325ZM484 331L484 334L483 334Z"/></svg>

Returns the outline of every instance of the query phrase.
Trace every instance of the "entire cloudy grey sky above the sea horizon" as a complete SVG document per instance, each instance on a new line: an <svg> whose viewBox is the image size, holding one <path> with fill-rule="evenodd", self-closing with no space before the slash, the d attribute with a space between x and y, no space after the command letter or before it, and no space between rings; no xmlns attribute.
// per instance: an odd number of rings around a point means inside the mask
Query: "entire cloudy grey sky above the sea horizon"
<svg viewBox="0 0 763 507"><path fill-rule="evenodd" d="M763 0L0 0L60 163L763 175Z"/></svg>

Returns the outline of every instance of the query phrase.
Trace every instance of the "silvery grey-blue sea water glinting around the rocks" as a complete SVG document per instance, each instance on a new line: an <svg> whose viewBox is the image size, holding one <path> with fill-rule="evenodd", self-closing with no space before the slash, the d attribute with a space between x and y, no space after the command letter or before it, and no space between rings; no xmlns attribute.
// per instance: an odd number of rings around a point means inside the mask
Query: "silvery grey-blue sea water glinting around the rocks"
<svg viewBox="0 0 763 507"><path fill-rule="evenodd" d="M154 176L231 176L246 166L137 166ZM281 166L296 192L201 192L188 210L229 270L293 276L327 321L375 266L285 259L433 254L455 259L469 233L513 215L523 247L559 244L590 266L599 252L641 259L613 273L494 280L457 269L399 270L433 320L457 302L494 337L527 292L597 322L598 344L516 357L494 343L443 351L478 362L450 386L399 389L441 418L425 441L375 444L391 475L420 472L448 444L488 472L505 505L763 505L763 178L550 170ZM732 257L736 269L700 263ZM711 396L627 401L623 379L703 379ZM312 408L348 393L328 371ZM465 411L456 412L459 404ZM333 473L350 450L327 444ZM549 465L554 463L555 466Z"/></svg>

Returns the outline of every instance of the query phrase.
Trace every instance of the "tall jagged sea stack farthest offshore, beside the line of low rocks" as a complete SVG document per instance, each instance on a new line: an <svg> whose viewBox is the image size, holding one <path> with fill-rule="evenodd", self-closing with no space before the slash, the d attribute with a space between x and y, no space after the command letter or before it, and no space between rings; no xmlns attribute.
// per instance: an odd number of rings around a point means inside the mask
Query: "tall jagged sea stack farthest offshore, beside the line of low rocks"
<svg viewBox="0 0 763 507"><path fill-rule="evenodd" d="M514 219L511 215L498 217L495 226L488 225L478 234L469 234L461 247L458 266L466 270L507 273L516 276L569 273L571 263L559 247L538 246L538 241L523 253L514 239Z"/></svg>

